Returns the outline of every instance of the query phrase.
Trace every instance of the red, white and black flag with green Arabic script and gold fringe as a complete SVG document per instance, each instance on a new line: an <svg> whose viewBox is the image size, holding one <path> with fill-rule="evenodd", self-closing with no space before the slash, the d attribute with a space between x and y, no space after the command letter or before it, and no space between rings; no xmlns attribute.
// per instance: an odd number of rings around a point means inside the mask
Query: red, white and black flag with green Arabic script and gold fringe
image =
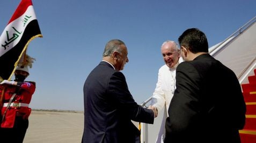
<svg viewBox="0 0 256 143"><path fill-rule="evenodd" d="M42 37L31 0L21 0L0 36L0 80L10 80L28 44Z"/></svg>

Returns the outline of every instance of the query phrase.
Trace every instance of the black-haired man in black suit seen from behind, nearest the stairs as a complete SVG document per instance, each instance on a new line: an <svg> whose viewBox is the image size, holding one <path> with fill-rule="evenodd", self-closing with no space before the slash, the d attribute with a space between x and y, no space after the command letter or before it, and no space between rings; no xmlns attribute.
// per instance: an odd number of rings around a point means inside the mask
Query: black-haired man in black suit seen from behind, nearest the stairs
<svg viewBox="0 0 256 143"><path fill-rule="evenodd" d="M240 142L246 107L235 73L208 54L199 29L187 29L178 40L185 62L176 70L164 142Z"/></svg>

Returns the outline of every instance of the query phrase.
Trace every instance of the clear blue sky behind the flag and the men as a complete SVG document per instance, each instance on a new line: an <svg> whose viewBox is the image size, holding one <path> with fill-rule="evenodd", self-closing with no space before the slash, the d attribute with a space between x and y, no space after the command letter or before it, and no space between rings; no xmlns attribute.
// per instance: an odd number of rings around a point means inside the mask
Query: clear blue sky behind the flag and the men
<svg viewBox="0 0 256 143"><path fill-rule="evenodd" d="M209 47L224 41L256 16L255 0L33 0L43 38L27 53L36 61L27 80L36 82L33 109L83 110L83 84L102 59L105 44L121 39L129 62L122 73L135 101L152 96L160 46L177 42L188 28L202 30ZM1 33L20 1L0 1Z"/></svg>

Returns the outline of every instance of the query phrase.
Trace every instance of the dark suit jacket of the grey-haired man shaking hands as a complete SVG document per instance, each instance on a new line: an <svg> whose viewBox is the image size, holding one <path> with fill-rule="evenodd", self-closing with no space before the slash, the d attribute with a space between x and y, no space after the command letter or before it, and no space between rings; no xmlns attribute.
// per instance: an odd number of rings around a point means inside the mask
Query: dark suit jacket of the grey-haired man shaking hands
<svg viewBox="0 0 256 143"><path fill-rule="evenodd" d="M154 114L137 105L125 76L101 61L84 83L82 142L133 143L140 132L131 120L152 124Z"/></svg>

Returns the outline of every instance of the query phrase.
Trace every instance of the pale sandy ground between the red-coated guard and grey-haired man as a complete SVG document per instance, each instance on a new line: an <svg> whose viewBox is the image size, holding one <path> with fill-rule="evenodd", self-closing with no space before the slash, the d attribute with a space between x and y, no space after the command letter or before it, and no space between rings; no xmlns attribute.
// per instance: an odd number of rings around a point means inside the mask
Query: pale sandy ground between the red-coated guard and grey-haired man
<svg viewBox="0 0 256 143"><path fill-rule="evenodd" d="M28 118L29 125L24 143L81 142L84 129L83 112L34 111Z"/></svg>

